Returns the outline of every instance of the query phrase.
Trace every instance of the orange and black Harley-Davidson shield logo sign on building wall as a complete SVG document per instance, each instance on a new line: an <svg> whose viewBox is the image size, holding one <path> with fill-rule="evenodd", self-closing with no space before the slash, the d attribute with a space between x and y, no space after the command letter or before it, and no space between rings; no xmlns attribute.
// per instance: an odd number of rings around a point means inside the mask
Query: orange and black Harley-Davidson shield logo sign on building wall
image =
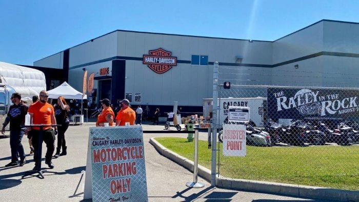
<svg viewBox="0 0 359 202"><path fill-rule="evenodd" d="M167 72L172 66L177 66L177 57L171 57L172 52L159 48L148 53L149 55L143 55L143 64L158 74Z"/></svg>

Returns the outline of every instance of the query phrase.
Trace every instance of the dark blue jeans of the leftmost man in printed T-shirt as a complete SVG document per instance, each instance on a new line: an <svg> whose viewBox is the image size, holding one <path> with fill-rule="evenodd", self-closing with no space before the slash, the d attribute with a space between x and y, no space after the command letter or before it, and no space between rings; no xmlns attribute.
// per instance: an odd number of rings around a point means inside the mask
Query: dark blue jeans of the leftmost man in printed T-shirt
<svg viewBox="0 0 359 202"><path fill-rule="evenodd" d="M25 134L24 130L11 130L10 131L10 148L11 148L11 161L16 162L18 157L25 158L25 151L21 140Z"/></svg>

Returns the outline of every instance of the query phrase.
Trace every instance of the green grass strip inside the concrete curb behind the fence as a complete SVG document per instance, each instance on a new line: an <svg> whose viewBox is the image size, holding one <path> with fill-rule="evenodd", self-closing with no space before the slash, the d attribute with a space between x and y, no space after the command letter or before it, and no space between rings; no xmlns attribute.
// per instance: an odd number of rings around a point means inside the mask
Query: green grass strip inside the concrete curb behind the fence
<svg viewBox="0 0 359 202"><path fill-rule="evenodd" d="M194 142L175 137L155 139L167 149L193 160ZM245 157L223 156L222 147L220 144L220 174L225 177L359 190L359 146L247 146ZM211 155L207 141L200 140L198 164L211 169ZM218 164L218 156L216 161Z"/></svg>

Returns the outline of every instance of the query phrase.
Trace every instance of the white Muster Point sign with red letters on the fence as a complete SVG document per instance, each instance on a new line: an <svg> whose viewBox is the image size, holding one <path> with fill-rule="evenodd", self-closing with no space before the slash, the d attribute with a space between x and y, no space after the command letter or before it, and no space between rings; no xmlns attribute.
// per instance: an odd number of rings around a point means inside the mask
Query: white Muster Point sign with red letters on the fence
<svg viewBox="0 0 359 202"><path fill-rule="evenodd" d="M245 125L224 124L222 135L224 156L246 156Z"/></svg>

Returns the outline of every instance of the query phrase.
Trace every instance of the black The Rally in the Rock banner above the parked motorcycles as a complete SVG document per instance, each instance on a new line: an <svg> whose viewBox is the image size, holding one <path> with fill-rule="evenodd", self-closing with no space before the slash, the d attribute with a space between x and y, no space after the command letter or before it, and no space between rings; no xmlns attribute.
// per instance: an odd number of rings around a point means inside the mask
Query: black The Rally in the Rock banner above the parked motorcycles
<svg viewBox="0 0 359 202"><path fill-rule="evenodd" d="M359 91L268 88L268 118L340 120L359 116Z"/></svg>

